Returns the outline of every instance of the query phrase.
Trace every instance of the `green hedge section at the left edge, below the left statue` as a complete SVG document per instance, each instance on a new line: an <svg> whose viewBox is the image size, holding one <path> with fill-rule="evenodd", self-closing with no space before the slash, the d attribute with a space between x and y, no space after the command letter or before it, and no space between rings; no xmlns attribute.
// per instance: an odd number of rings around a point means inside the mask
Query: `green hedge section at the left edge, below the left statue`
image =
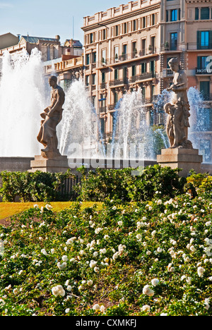
<svg viewBox="0 0 212 330"><path fill-rule="evenodd" d="M61 200L60 192L64 181L73 177L70 170L66 173L3 171L0 173L0 196L4 202L15 202L16 196L19 196L22 202Z"/></svg>

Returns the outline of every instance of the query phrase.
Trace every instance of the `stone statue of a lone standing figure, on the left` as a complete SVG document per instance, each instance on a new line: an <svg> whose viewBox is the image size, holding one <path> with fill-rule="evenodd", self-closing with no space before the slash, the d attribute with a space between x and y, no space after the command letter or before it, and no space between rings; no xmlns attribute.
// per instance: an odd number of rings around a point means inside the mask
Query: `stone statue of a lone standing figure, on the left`
<svg viewBox="0 0 212 330"><path fill-rule="evenodd" d="M65 102L64 90L57 85L57 77L52 75L49 78L49 85L52 87L51 105L40 115L42 117L40 132L37 140L44 145L41 149L42 157L54 159L61 157L57 140L57 125L62 119L62 106Z"/></svg>

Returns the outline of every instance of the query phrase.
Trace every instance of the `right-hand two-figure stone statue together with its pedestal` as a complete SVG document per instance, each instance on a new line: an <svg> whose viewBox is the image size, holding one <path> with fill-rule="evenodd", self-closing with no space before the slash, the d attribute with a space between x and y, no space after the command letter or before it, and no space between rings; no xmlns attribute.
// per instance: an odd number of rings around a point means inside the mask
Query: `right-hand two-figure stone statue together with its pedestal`
<svg viewBox="0 0 212 330"><path fill-rule="evenodd" d="M179 66L177 58L170 59L169 66L175 73L173 84L168 89L174 92L172 103L167 103L164 110L167 114L167 136L170 140L170 148L162 149L157 161L161 166L170 166L172 169L182 169L180 176L188 176L194 169L201 173L203 157L199 150L194 149L192 142L188 140L190 105L187 97L187 76Z"/></svg>

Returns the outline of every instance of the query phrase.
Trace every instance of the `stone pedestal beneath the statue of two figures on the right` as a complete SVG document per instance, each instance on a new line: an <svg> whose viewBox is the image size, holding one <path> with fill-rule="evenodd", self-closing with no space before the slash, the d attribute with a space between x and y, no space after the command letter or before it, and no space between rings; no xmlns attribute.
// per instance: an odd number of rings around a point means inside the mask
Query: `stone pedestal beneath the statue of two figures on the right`
<svg viewBox="0 0 212 330"><path fill-rule="evenodd" d="M157 157L160 166L169 166L172 169L182 169L179 176L189 176L189 171L194 169L196 173L201 173L201 163L203 157L199 155L199 149L162 149Z"/></svg>

